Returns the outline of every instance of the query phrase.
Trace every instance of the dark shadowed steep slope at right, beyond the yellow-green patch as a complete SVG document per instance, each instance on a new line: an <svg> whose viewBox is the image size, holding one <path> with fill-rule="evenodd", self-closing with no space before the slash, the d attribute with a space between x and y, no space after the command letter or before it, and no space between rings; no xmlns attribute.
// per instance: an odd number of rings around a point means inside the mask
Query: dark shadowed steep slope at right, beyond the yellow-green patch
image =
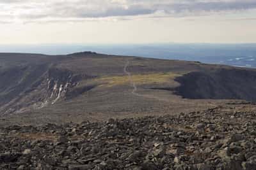
<svg viewBox="0 0 256 170"><path fill-rule="evenodd" d="M256 71L217 69L176 78L176 94L188 99L244 99L256 101Z"/></svg>

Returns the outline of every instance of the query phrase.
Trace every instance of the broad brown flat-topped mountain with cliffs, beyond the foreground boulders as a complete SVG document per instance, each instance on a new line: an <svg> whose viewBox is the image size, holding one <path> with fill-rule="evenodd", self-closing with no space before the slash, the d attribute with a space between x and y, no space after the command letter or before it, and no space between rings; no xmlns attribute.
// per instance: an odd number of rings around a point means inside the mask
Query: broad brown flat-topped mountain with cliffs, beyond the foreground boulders
<svg viewBox="0 0 256 170"><path fill-rule="evenodd" d="M95 52L0 53L2 124L196 111L255 101L255 87L255 69Z"/></svg>

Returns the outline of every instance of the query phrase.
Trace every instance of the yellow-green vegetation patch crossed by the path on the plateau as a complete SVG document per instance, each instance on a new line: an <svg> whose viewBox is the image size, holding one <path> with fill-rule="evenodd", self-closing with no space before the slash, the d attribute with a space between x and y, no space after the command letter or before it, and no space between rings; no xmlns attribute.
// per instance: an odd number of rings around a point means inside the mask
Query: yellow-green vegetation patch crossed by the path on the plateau
<svg viewBox="0 0 256 170"><path fill-rule="evenodd" d="M129 76L103 76L96 78L93 81L97 83L107 84L108 87L115 85L124 85L133 81L137 85L150 84L150 83L165 83L172 81L180 74L175 73L150 73L150 74L133 74Z"/></svg>

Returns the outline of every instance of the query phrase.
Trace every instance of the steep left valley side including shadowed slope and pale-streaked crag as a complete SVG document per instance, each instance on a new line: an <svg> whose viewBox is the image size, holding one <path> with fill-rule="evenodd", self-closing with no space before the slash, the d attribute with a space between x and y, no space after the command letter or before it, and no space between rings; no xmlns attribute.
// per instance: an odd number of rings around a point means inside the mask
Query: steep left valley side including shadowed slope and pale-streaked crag
<svg viewBox="0 0 256 170"><path fill-rule="evenodd" d="M2 114L40 109L72 96L83 76L49 66L14 67L0 72Z"/></svg>

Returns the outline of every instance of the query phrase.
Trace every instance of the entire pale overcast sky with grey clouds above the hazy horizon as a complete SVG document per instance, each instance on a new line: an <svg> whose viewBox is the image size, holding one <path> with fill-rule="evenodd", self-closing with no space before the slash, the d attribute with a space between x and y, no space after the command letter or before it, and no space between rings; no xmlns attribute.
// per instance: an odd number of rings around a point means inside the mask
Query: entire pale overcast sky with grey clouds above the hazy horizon
<svg viewBox="0 0 256 170"><path fill-rule="evenodd" d="M0 43L252 43L256 0L0 0Z"/></svg>

